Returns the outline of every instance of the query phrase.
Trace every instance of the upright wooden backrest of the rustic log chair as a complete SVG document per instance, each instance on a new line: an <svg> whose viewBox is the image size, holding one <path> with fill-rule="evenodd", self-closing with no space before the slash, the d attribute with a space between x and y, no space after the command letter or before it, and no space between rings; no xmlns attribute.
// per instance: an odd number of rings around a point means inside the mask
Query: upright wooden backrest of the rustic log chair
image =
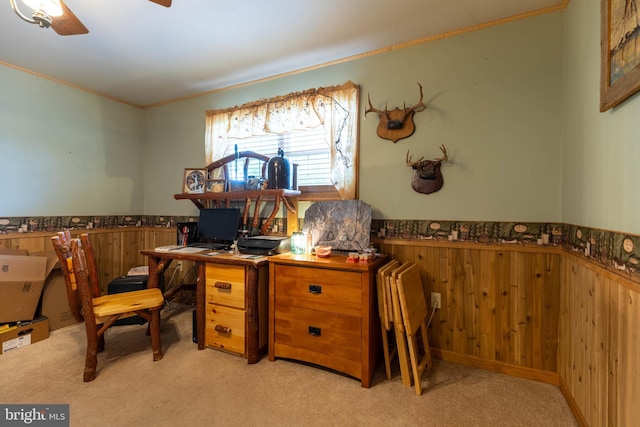
<svg viewBox="0 0 640 427"><path fill-rule="evenodd" d="M57 235L51 238L53 249L60 262L60 268L64 281L67 287L67 299L69 300L69 308L73 317L78 321L84 321L82 301L78 290L78 281L75 274L75 268L73 266L73 254L71 251L71 242L74 239L71 238L71 233L67 231L61 231ZM78 239L75 239L78 240ZM92 297L100 295L100 288L98 286L98 274L96 269L95 255L89 241L89 235L83 234L80 240L84 242L82 244L84 248L85 261L87 265L92 265L89 268L89 289Z"/></svg>

